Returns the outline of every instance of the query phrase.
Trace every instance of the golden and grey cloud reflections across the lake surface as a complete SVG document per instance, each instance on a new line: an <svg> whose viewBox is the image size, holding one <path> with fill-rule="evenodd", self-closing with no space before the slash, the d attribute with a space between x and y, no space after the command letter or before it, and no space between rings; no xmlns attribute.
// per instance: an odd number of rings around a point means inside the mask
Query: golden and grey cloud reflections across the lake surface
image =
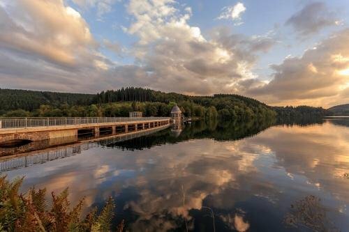
<svg viewBox="0 0 349 232"><path fill-rule="evenodd" d="M40 183L38 187L51 192L70 186L71 200L87 196L88 206L132 187L137 197L126 199L124 205L138 216L129 225L133 231L175 229L184 218L193 226L191 210L203 205L219 211L228 228L244 231L251 219L235 213L235 208L251 199L283 211L290 198L306 192L329 198L329 193L340 201L339 212L346 213L349 185L339 175L349 170L348 138L348 128L325 123L272 127L239 141L200 139L135 151L94 148L27 167L24 187ZM50 171L40 173L38 168ZM258 203L248 207L259 210Z"/></svg>

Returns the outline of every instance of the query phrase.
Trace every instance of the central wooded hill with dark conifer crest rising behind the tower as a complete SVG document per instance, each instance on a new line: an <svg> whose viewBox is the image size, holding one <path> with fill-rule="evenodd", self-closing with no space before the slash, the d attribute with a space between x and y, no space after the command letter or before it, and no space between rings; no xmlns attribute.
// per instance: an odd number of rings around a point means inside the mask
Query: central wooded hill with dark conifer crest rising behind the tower
<svg viewBox="0 0 349 232"><path fill-rule="evenodd" d="M213 96L190 96L179 93L163 93L146 88L121 88L117 91L103 91L94 98L95 104L119 101L161 102L169 104L177 102L185 116L202 117L216 114L223 120L247 120L252 118L270 118L276 116L275 111L253 98L241 95L217 94Z"/></svg>

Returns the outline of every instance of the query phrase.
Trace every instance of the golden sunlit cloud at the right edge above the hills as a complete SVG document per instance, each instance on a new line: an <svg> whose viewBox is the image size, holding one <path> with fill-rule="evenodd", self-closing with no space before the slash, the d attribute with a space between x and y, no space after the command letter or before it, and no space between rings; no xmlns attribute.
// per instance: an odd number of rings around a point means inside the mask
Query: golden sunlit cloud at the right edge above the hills
<svg viewBox="0 0 349 232"><path fill-rule="evenodd" d="M316 49L306 50L300 57L287 57L280 65L272 65L274 75L269 83L247 92L264 98L269 95L268 101L274 101L275 105L309 102L329 107L336 99L346 102L348 98L340 95L348 83L348 40L349 30L345 29L320 42Z"/></svg>

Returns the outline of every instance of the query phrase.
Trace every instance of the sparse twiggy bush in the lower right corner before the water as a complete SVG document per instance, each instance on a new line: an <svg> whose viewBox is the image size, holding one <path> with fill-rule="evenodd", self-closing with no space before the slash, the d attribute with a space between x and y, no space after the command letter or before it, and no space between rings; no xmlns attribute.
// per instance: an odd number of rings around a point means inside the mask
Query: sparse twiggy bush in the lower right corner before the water
<svg viewBox="0 0 349 232"><path fill-rule="evenodd" d="M339 231L327 218L327 210L320 201L320 198L312 195L296 201L285 216L285 224L296 228L306 227L318 232Z"/></svg>

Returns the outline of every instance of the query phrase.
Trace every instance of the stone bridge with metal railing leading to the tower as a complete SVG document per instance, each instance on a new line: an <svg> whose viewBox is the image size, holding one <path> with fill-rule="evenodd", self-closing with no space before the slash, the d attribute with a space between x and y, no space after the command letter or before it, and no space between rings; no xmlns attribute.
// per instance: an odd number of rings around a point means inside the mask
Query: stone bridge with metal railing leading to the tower
<svg viewBox="0 0 349 232"><path fill-rule="evenodd" d="M0 144L13 141L40 141L60 137L77 137L81 130L99 136L100 129L110 127L127 133L170 124L170 118L0 118ZM119 127L119 128L118 128ZM120 129L121 127L121 129Z"/></svg>

